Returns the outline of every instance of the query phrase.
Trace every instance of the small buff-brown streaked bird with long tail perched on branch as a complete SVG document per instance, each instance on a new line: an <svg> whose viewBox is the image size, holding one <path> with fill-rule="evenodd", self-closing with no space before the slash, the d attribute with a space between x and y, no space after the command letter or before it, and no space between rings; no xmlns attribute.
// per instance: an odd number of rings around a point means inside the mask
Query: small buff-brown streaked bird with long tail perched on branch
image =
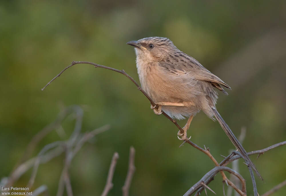
<svg viewBox="0 0 286 196"><path fill-rule="evenodd" d="M178 137L181 137L179 139L189 139L187 130L190 123L194 115L202 110L211 119L215 117L219 121L246 162L262 179L247 152L215 107L218 98L215 89L227 94L223 87L231 89L229 85L208 71L196 59L180 51L166 37L147 37L129 41L127 44L135 47L136 65L142 89L158 105L157 108L156 105L151 105L154 113L160 115L164 111L176 119L189 117L183 127L184 133L178 132Z"/></svg>

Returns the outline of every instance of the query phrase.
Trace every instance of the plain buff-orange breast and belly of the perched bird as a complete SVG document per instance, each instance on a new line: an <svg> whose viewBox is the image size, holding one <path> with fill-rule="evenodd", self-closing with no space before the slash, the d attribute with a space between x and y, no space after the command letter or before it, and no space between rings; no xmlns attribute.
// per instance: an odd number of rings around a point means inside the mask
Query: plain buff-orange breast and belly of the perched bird
<svg viewBox="0 0 286 196"><path fill-rule="evenodd" d="M198 94L190 85L182 86L185 82L178 76L172 78L163 75L158 66L147 66L139 71L139 79L142 89L155 102L184 103L185 106L163 106L162 110L169 116L183 119L183 116L195 115L200 109L196 106L196 98L193 95ZM193 90L193 93L191 92ZM193 97L192 97L193 96Z"/></svg>

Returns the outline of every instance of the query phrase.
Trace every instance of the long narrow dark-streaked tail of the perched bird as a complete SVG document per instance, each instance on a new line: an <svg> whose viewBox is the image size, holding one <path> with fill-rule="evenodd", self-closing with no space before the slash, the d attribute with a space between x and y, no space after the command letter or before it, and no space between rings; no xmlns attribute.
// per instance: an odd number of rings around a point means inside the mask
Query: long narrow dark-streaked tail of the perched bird
<svg viewBox="0 0 286 196"><path fill-rule="evenodd" d="M238 139L235 137L235 135L233 134L233 132L229 128L229 125L227 125L227 123L224 121L224 119L221 117L221 115L219 114L219 112L217 111L217 109L215 107L212 107L212 110L214 111L216 119L219 121L219 124L221 125L221 127L223 128L223 130L225 131L225 133L227 134L227 136L229 137L229 139L231 140L233 145L235 145L235 147L239 150L239 152L241 153L243 158L248 162L248 164L252 167L252 169L257 173L259 178L261 180L263 180L263 178L261 177L261 175L257 171L254 163L249 159L247 152L245 151L245 149L243 148L241 143L238 141Z"/></svg>

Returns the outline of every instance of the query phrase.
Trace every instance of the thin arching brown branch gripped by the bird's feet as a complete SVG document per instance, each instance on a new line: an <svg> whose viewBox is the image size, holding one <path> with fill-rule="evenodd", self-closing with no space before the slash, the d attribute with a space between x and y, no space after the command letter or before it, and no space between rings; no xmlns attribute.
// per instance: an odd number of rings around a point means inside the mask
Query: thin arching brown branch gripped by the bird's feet
<svg viewBox="0 0 286 196"><path fill-rule="evenodd" d="M97 67L100 67L100 68L104 68L104 69L109 69L109 70L112 70L112 71L116 71L118 73L121 73L123 75L125 75L128 79L130 79L138 88L138 90L140 90L144 95L145 97L148 98L148 100L150 101L150 103L152 105L155 105L154 101L152 101L152 99L143 91L143 89L136 83L136 81L130 77L130 75L128 75L123 69L122 70L118 70L118 69L114 69L112 67L107 67L107 66L104 66L104 65L99 65L99 64L96 64L96 63L92 63L92 62L88 62L88 61L73 61L69 66L67 66L65 69L63 69L58 75L56 75L51 81L49 81L41 90L44 90L48 85L50 85L50 83L52 81L54 81L57 77L59 77L66 69L76 65L76 64L90 64L90 65L94 65L95 68ZM156 106L158 107L158 106ZM178 123L172 119L170 116L168 116L164 111L162 113L166 118L168 118L170 121L172 121L172 123L174 123L176 125L176 127L180 130L180 133L183 133L183 130L182 128L180 127L180 125L178 125ZM223 161L223 164L219 164L216 159L210 154L210 152L207 150L207 149L202 149L201 147L199 147L198 145L194 144L193 142L191 142L190 140L185 140L184 143L189 143L190 145L192 145L193 147L195 147L196 149L202 151L203 153L205 153L206 155L208 155L208 157L210 157L210 159L215 163L215 165L217 167L220 167L220 166L225 166L227 165L228 163L230 163L231 161L235 160L235 159L239 159L241 158L241 156L239 155L239 153L231 153L229 156L227 156L225 158L225 160ZM286 142L286 141L285 141ZM274 146L274 145L273 145ZM278 146L275 146L275 147L278 147ZM259 154L263 154L264 152L259 152ZM236 155L235 155L236 154ZM235 156L234 156L235 155ZM230 168L229 168L230 169ZM227 177L225 176L224 170L221 169L221 170L218 170L218 172L221 172L221 175L223 177L223 182L227 183L227 185L231 185L231 187L233 187L233 189L235 189L237 191L237 193L239 193L241 196L245 196L246 195L246 189L245 189L245 182L242 183L242 189L240 190L239 188L237 188L237 186L232 183L229 179L227 179ZM225 170L227 171L227 170ZM253 175L253 172L251 169L249 169L250 173L251 173L251 177L252 177L252 181L253 181L253 190L254 190L254 194L255 196L257 196L257 190L256 190L256 184L255 184L255 179L254 179L254 175ZM208 178L206 182L204 182L206 185L212 181L213 178ZM196 193L196 195L198 195L200 193L200 189L198 190L198 192Z"/></svg>

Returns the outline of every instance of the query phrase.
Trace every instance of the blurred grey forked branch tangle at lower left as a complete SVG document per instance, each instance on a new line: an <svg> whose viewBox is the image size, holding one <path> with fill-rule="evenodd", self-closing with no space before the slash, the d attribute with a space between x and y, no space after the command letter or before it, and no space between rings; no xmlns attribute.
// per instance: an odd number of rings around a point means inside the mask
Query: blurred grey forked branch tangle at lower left
<svg viewBox="0 0 286 196"><path fill-rule="evenodd" d="M73 195L72 194L72 187L70 185L69 173L68 173L68 169L69 169L69 166L71 164L73 157L81 149L81 147L84 145L84 143L86 141L88 141L89 139L91 139L95 135L102 133L103 131L108 130L110 128L110 126L105 125L103 127L95 129L91 132L84 133L84 135L81 135L80 132L82 129L82 109L80 109L79 106L71 106L71 107L68 107L67 109L65 109L64 112L61 112L61 114L59 115L61 117L60 121L62 121L63 118L68 113L71 113L72 111L74 111L76 114L75 115L76 124L74 127L74 131L71 134L69 140L67 140L67 141L56 141L56 142L50 143L50 144L46 145L45 147L43 147L43 149L39 152L37 157L29 159L29 160L25 161L24 163L22 163L21 165L19 165L18 167L16 167L14 169L14 171L11 173L10 177L7 178L7 180L5 181L3 186L5 186L5 187L11 186L17 179L19 179L19 177L21 177L21 175L23 175L25 172L27 172L27 170L29 170L31 167L34 166L32 174L31 174L31 178L30 178L29 183L27 185L27 187L31 187L35 181L35 177L37 175L37 169L39 167L39 164L46 163L47 161L53 159L54 157L59 156L61 153L63 153L65 151L66 152L66 156L65 156L66 158L65 158L65 163L64 163L62 174L61 174L61 178L59 181L59 189L58 189L57 195L63 195L64 186L66 187L67 195L68 196ZM56 122L57 121L59 121L59 120L56 120ZM52 123L52 124L57 124L57 123ZM54 125L51 127L55 128ZM43 137L44 135L46 135L47 130L51 131L50 129L51 128L49 128L49 129L45 128L45 129L43 129L44 131L43 130L40 131L39 132L40 134L37 134L37 135L41 135L41 137ZM43 134L44 132L45 132L45 134ZM36 137L36 138L41 138L41 137ZM39 142L39 139L34 139L34 140L32 139L32 143L37 143L37 142ZM29 145L29 146L34 146L34 145L35 144ZM43 189L43 187L41 187L40 190L42 190L42 189Z"/></svg>

